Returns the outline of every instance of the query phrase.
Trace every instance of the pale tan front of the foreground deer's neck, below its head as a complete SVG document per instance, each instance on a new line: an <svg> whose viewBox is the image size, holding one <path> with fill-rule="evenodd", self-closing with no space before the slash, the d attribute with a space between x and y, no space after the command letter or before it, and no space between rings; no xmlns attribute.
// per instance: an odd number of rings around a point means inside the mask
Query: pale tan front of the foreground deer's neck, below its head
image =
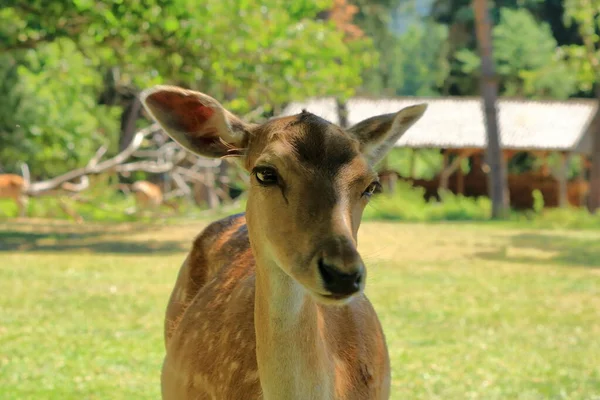
<svg viewBox="0 0 600 400"><path fill-rule="evenodd" d="M323 324L305 289L275 262L258 258L254 325L265 400L333 397Z"/></svg>

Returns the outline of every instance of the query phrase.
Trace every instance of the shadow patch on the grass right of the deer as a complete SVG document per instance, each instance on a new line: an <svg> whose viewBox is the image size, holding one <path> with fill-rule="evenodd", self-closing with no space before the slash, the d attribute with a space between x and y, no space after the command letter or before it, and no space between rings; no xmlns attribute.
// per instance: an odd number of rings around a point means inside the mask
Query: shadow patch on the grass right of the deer
<svg viewBox="0 0 600 400"><path fill-rule="evenodd" d="M528 254L531 250L536 255ZM480 252L477 256L502 262L600 268L600 240L597 237L586 239L525 233L512 236L509 243L497 251Z"/></svg>

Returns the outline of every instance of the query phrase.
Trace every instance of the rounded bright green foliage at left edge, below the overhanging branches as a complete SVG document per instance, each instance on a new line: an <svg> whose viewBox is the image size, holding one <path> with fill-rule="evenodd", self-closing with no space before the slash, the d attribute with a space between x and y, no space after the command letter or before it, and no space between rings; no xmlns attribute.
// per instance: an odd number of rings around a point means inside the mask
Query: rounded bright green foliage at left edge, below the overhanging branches
<svg viewBox="0 0 600 400"><path fill-rule="evenodd" d="M0 56L0 160L35 177L57 175L117 139L117 110L96 105L101 77L73 41Z"/></svg>

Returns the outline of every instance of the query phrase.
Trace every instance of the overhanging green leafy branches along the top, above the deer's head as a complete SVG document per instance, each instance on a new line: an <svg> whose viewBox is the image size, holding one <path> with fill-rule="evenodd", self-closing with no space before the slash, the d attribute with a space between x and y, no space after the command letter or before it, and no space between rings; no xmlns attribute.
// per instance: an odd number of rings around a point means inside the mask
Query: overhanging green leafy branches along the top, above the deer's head
<svg viewBox="0 0 600 400"><path fill-rule="evenodd" d="M20 3L9 2L21 18L16 44L76 37L91 60L119 65L123 81L138 87L185 82L217 97L238 95L247 99L232 102L239 112L308 95L350 95L361 83L360 68L374 61L368 40L346 44L332 24L315 20L331 6L323 0L293 6L282 0L207 0L202 6L79 0L54 2L50 12L42 1ZM60 29L68 17L73 22ZM7 43L14 45L14 38Z"/></svg>

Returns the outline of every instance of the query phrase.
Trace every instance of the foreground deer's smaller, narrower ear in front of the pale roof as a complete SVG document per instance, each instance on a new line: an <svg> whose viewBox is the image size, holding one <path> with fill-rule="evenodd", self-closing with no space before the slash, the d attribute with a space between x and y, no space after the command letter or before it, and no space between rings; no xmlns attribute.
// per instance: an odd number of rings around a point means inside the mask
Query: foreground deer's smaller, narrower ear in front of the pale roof
<svg viewBox="0 0 600 400"><path fill-rule="evenodd" d="M359 122L348 133L360 142L360 148L371 165L380 161L400 137L425 113L427 104L403 108L397 113L378 115Z"/></svg>

